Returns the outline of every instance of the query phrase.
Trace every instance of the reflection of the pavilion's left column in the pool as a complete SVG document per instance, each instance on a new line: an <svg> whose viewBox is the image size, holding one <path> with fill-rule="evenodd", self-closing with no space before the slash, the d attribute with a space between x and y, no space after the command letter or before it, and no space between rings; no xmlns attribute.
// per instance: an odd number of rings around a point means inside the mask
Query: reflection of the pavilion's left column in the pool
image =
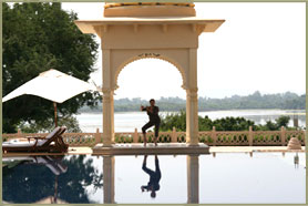
<svg viewBox="0 0 308 206"><path fill-rule="evenodd" d="M114 156L103 156L104 204L114 203Z"/></svg>

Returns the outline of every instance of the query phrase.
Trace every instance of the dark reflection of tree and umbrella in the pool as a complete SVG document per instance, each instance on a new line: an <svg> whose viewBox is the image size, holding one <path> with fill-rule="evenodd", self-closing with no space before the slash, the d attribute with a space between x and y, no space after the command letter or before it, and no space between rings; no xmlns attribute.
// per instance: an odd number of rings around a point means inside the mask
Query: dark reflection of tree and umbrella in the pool
<svg viewBox="0 0 308 206"><path fill-rule="evenodd" d="M9 203L90 203L86 187L102 187L102 173L86 156L3 157L2 164Z"/></svg>

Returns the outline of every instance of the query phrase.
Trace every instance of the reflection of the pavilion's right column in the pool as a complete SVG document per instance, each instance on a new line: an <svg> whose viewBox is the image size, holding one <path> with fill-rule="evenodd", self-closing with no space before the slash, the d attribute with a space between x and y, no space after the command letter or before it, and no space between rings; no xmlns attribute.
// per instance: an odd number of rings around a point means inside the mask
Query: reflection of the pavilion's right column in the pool
<svg viewBox="0 0 308 206"><path fill-rule="evenodd" d="M187 155L187 203L199 203L199 157Z"/></svg>

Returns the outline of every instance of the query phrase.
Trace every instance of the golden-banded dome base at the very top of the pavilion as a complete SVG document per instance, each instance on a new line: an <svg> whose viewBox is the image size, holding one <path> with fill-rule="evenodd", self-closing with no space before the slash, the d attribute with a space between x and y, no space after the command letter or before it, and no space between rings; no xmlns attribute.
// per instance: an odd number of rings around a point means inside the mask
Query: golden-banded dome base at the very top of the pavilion
<svg viewBox="0 0 308 206"><path fill-rule="evenodd" d="M195 17L194 3L105 3L104 17Z"/></svg>

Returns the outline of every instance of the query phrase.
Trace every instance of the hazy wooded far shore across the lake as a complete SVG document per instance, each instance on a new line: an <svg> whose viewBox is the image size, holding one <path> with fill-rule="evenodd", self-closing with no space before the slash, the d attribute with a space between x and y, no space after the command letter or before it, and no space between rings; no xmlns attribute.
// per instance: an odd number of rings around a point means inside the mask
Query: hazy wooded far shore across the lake
<svg viewBox="0 0 308 206"><path fill-rule="evenodd" d="M137 112L141 105L148 105L147 100L140 97L120 99L114 101L114 112ZM186 110L186 100L181 97L161 97L156 100L160 111L179 112ZM225 99L198 99L198 111L229 111L229 110L305 110L306 95L286 92L280 94L260 94L255 92L247 96L234 95ZM83 106L79 113L101 113L102 103L100 102L95 109Z"/></svg>

